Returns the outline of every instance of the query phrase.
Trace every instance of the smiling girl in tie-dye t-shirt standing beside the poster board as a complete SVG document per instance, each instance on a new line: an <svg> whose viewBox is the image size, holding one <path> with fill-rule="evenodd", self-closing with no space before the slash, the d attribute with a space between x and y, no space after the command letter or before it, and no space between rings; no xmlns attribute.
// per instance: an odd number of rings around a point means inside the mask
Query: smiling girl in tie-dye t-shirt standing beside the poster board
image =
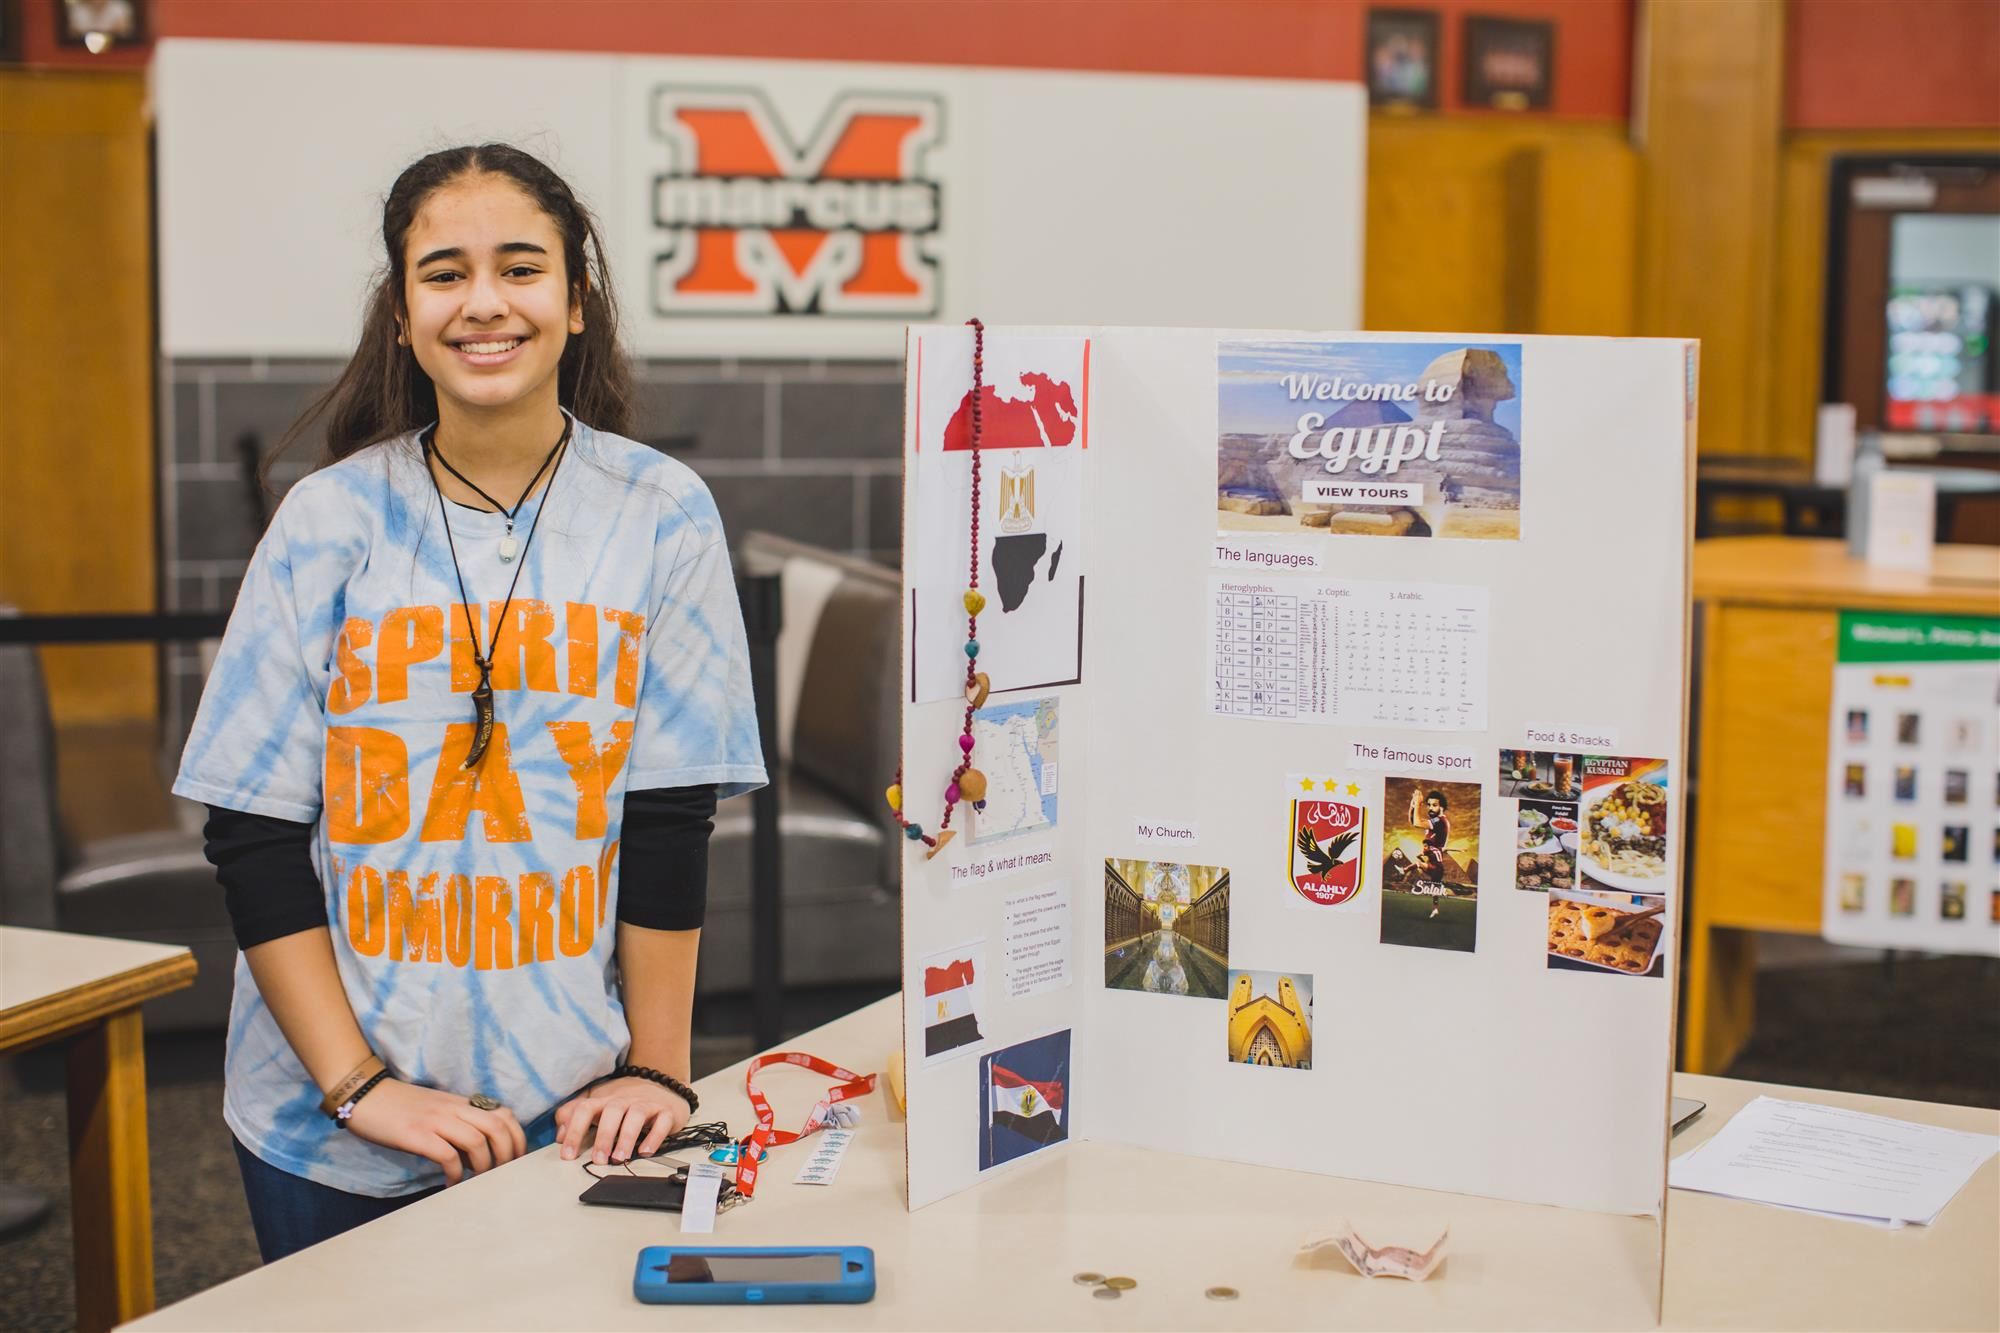
<svg viewBox="0 0 2000 1333"><path fill-rule="evenodd" d="M174 791L242 947L224 1119L266 1261L562 1137L694 1111L718 797L764 783L714 502L622 438L590 214L434 152L244 576ZM298 430L294 430L298 434Z"/></svg>

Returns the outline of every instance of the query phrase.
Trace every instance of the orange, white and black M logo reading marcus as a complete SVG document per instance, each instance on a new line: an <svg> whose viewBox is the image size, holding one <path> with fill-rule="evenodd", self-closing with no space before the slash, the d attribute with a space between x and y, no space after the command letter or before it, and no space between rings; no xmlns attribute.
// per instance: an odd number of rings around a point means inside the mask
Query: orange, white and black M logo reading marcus
<svg viewBox="0 0 2000 1333"><path fill-rule="evenodd" d="M794 138L756 88L654 94L660 314L938 312L934 96L844 92Z"/></svg>

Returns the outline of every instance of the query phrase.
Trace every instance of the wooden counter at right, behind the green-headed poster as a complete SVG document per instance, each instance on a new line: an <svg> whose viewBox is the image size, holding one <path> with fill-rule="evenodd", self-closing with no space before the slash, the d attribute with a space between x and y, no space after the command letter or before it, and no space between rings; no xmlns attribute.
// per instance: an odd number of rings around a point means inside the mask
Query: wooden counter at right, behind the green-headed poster
<svg viewBox="0 0 2000 1333"><path fill-rule="evenodd" d="M1820 933L1828 711L1842 610L2000 612L2000 548L1938 546L1928 574L1836 540L1694 544L1700 737L1682 1069L1726 1069L1756 1013L1746 931Z"/></svg>

